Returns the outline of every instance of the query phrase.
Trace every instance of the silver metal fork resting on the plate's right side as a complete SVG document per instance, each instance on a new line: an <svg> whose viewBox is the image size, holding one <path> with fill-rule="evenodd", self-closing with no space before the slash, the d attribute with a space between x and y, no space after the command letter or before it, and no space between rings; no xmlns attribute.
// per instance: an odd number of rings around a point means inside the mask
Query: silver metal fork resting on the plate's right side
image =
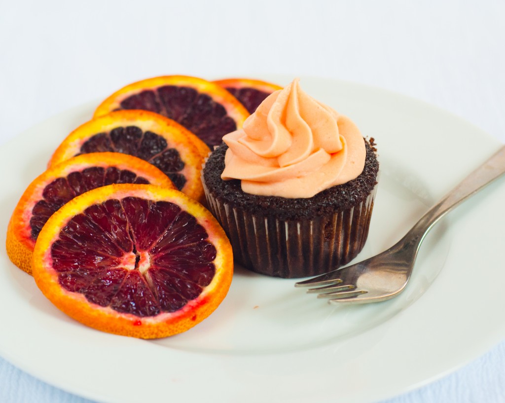
<svg viewBox="0 0 505 403"><path fill-rule="evenodd" d="M419 247L433 225L503 173L505 146L447 193L389 249L363 262L300 281L295 287L316 287L308 292L330 298L333 304L365 304L398 295L409 282Z"/></svg>

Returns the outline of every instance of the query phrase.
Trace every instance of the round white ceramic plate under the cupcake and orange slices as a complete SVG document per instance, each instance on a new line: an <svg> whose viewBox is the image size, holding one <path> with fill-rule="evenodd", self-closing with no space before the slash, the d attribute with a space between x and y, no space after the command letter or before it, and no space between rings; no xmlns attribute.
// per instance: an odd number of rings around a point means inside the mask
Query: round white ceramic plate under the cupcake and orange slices
<svg viewBox="0 0 505 403"><path fill-rule="evenodd" d="M286 77L267 79L286 83ZM399 239L500 145L467 122L405 96L315 78L300 83L378 144L380 185L358 259ZM95 106L49 119L0 149L0 243L25 187ZM104 402L387 398L455 370L505 336L504 198L500 180L444 219L423 244L408 289L393 300L330 306L295 289L295 280L237 269L211 317L156 341L101 333L69 319L4 252L0 354L37 378Z"/></svg>

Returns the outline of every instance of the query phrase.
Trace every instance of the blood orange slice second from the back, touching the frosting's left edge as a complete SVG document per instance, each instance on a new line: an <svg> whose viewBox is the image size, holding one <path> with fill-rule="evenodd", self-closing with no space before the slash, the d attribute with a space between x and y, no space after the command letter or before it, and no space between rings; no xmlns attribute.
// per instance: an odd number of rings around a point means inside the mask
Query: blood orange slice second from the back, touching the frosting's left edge
<svg viewBox="0 0 505 403"><path fill-rule="evenodd" d="M242 127L249 113L215 83L197 77L162 76L129 84L98 106L94 116L119 109L143 109L175 120L211 148Z"/></svg>

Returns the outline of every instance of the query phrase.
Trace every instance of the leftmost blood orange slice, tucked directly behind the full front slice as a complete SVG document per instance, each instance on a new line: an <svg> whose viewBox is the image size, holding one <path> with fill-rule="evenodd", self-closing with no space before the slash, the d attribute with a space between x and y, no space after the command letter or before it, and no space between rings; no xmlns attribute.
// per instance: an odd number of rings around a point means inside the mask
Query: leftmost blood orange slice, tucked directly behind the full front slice
<svg viewBox="0 0 505 403"><path fill-rule="evenodd" d="M35 241L47 219L73 197L112 183L175 188L158 168L126 154L85 154L55 165L33 180L14 209L6 242L11 261L31 274Z"/></svg>

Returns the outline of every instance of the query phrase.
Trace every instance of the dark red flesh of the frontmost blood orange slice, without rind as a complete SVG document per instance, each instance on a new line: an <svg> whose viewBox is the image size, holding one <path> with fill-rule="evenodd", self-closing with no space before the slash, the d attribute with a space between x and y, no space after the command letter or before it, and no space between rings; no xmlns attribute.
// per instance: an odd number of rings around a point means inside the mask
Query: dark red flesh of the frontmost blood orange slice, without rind
<svg viewBox="0 0 505 403"><path fill-rule="evenodd" d="M60 285L139 317L175 312L216 269L205 228L171 202L109 199L74 216L51 248Z"/></svg>

